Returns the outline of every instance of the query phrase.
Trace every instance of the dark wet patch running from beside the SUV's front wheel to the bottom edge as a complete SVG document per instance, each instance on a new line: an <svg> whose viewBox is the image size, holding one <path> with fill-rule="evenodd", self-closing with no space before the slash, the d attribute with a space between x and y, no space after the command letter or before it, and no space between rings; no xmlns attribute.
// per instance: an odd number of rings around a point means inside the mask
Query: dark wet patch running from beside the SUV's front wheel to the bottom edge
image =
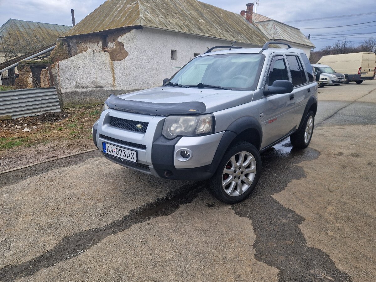
<svg viewBox="0 0 376 282"><path fill-rule="evenodd" d="M284 190L291 180L306 177L304 169L296 164L319 155L309 147L294 149L289 139L282 141L262 154L263 170L251 196L232 206L237 215L252 220L256 234L255 258L278 268L280 282L323 281L322 277L315 276L317 269L337 269L325 252L307 246L299 228L305 218L272 197ZM333 281L351 281L348 276L331 278Z"/></svg>

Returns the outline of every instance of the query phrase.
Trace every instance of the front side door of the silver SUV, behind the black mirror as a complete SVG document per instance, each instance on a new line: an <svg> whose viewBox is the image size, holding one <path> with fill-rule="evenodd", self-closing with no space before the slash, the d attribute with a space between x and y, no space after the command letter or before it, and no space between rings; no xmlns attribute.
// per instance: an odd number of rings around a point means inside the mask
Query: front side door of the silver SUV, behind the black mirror
<svg viewBox="0 0 376 282"><path fill-rule="evenodd" d="M282 55L274 56L272 59L265 87L272 85L275 80L289 80L287 64ZM261 148L264 148L291 131L294 119L295 96L294 92L291 92L270 94L262 99L265 100L265 108L262 119L264 133Z"/></svg>

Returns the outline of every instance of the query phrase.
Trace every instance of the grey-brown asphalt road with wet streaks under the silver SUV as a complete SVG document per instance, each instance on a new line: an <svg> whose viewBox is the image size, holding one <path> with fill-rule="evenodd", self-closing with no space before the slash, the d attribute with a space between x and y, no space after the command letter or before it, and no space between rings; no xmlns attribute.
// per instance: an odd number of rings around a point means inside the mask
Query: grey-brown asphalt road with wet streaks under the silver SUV
<svg viewBox="0 0 376 282"><path fill-rule="evenodd" d="M376 80L319 89L246 201L99 152L0 175L0 281L375 281Z"/></svg>

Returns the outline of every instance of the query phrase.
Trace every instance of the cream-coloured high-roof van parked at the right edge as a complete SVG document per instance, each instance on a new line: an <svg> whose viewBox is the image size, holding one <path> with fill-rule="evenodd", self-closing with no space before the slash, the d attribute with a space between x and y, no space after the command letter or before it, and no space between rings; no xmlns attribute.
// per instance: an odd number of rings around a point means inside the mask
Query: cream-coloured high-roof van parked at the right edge
<svg viewBox="0 0 376 282"><path fill-rule="evenodd" d="M317 64L329 65L343 73L345 83L355 81L360 84L363 80L374 79L376 73L376 55L370 52L322 56Z"/></svg>

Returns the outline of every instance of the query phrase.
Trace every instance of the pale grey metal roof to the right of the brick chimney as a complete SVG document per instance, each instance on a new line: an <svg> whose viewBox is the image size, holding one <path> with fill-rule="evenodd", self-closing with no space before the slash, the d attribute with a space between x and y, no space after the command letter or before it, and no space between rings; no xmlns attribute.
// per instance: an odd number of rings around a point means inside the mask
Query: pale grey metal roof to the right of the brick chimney
<svg viewBox="0 0 376 282"><path fill-rule="evenodd" d="M255 24L270 39L280 39L309 47L315 47L315 45L305 37L300 29L297 29L296 27L289 26L288 24L284 24L276 20L264 20L256 22Z"/></svg>

